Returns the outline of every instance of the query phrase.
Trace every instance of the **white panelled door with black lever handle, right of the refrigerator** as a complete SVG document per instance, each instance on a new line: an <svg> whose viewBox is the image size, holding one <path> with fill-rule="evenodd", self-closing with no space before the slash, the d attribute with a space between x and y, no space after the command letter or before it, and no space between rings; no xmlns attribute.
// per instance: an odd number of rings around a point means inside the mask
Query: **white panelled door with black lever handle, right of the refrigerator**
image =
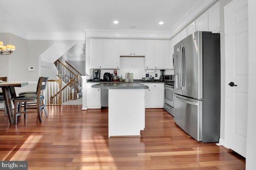
<svg viewBox="0 0 256 170"><path fill-rule="evenodd" d="M248 108L248 2L224 7L226 57L226 147L246 157ZM234 85L232 85L234 82Z"/></svg>

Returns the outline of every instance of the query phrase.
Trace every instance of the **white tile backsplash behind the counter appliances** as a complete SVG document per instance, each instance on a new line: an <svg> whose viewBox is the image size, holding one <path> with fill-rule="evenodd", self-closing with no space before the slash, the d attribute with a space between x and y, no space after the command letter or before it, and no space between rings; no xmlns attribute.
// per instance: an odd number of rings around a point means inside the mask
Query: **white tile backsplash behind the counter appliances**
<svg viewBox="0 0 256 170"><path fill-rule="evenodd" d="M133 73L134 79L142 79L142 77L146 77L146 74L149 74L149 76L158 80L160 70L145 70L144 60L144 57L120 57L120 69L116 69L117 75L122 75L124 78L126 72L131 72ZM105 72L110 72L110 74L112 74L114 70L115 69L101 69L100 78L103 79ZM157 74L157 77L155 77L155 74ZM165 74L174 74L174 70L165 70Z"/></svg>

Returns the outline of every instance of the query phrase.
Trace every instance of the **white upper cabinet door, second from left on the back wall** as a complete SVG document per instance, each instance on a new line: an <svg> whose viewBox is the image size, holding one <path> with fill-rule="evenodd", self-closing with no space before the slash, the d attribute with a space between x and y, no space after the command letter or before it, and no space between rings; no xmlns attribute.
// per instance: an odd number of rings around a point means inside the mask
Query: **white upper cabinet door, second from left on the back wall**
<svg viewBox="0 0 256 170"><path fill-rule="evenodd" d="M103 40L103 68L119 68L119 40Z"/></svg>

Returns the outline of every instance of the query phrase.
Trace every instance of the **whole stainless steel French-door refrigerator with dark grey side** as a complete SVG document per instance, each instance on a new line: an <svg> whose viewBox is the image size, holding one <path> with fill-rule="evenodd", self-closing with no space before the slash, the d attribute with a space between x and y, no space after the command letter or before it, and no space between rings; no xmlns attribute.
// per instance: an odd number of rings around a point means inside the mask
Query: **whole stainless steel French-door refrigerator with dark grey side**
<svg viewBox="0 0 256 170"><path fill-rule="evenodd" d="M220 138L220 34L196 31L174 46L174 121L197 141Z"/></svg>

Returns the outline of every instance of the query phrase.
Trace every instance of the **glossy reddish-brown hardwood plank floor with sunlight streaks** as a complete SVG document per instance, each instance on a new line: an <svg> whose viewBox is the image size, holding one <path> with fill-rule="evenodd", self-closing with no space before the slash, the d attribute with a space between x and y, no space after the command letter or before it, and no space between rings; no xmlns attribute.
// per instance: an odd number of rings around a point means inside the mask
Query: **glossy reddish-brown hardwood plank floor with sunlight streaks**
<svg viewBox="0 0 256 170"><path fill-rule="evenodd" d="M29 170L236 170L245 159L184 133L164 109L146 109L142 137L108 138L108 109L47 106L10 125L0 111L0 159L27 160Z"/></svg>

